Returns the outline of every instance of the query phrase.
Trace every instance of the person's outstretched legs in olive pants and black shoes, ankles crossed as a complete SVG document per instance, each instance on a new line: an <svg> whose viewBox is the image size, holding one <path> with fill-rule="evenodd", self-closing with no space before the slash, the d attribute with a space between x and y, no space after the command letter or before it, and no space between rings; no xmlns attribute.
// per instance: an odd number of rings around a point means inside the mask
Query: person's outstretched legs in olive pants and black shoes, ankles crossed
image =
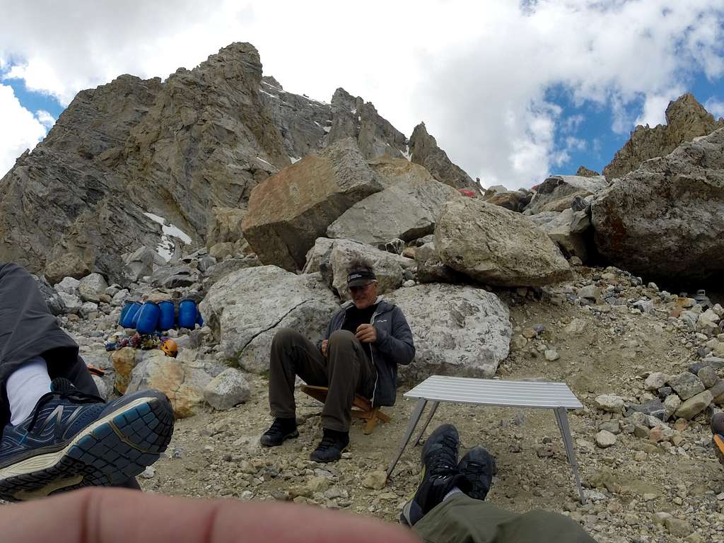
<svg viewBox="0 0 724 543"><path fill-rule="evenodd" d="M596 543L573 519L534 510L512 513L484 502L495 460L475 447L458 463L458 431L439 426L422 448L420 487L400 514L426 543Z"/></svg>

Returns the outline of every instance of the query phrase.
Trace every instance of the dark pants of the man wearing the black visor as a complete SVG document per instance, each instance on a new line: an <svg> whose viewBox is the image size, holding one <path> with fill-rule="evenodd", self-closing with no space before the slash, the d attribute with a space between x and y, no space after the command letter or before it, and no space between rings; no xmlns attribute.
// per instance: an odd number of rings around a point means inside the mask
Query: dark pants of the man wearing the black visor
<svg viewBox="0 0 724 543"><path fill-rule="evenodd" d="M271 342L269 407L274 417L295 416L295 376L315 387L329 387L321 424L330 430L348 432L355 393L372 397L377 371L352 332L333 332L325 357L302 334L282 328Z"/></svg>

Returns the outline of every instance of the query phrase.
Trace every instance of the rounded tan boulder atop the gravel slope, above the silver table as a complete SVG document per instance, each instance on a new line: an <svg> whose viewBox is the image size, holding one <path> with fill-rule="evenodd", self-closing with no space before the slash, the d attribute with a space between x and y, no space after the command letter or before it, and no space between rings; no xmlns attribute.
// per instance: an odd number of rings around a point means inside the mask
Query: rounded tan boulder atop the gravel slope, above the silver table
<svg viewBox="0 0 724 543"><path fill-rule="evenodd" d="M547 285L571 276L555 243L523 215L477 198L442 206L435 248L444 264L489 285Z"/></svg>

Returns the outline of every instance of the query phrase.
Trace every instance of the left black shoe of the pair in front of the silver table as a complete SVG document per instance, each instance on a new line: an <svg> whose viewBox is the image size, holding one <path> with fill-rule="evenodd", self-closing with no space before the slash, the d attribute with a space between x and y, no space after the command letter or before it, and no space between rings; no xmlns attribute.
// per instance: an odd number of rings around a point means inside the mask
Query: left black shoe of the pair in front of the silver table
<svg viewBox="0 0 724 543"><path fill-rule="evenodd" d="M400 513L400 523L414 526L417 521L442 502L455 487L467 492L470 484L458 471L458 430L452 424L442 424L432 432L422 447L422 482Z"/></svg>

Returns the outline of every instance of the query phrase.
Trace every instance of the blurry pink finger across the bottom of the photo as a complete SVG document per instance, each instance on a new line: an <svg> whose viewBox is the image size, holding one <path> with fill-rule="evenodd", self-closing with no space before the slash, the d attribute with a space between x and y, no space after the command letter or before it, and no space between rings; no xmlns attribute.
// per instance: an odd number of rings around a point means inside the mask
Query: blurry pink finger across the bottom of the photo
<svg viewBox="0 0 724 543"><path fill-rule="evenodd" d="M38 522L43 519L43 522ZM417 542L361 516L283 503L85 489L0 508L3 543Z"/></svg>

